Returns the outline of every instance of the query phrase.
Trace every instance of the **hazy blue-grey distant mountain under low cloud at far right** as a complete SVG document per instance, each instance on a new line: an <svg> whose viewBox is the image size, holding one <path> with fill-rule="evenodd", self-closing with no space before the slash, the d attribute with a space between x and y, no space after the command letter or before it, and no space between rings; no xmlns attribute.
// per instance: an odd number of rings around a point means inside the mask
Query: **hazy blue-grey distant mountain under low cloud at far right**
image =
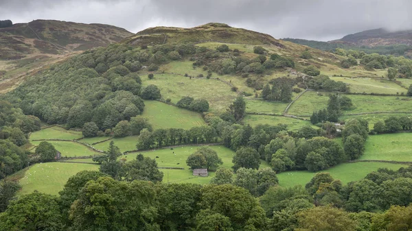
<svg viewBox="0 0 412 231"><path fill-rule="evenodd" d="M349 42L356 46L378 47L389 45L412 45L412 29L390 32L387 29L369 29L355 34L349 34L330 43Z"/></svg>

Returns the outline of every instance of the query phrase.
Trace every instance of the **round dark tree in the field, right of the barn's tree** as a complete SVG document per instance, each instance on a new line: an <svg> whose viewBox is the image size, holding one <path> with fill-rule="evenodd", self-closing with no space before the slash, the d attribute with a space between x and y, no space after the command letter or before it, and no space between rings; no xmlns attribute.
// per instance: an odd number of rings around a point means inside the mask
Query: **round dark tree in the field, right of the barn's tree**
<svg viewBox="0 0 412 231"><path fill-rule="evenodd" d="M242 147L233 156L233 169L237 171L241 167L246 169L259 169L260 155L258 151L251 147Z"/></svg>

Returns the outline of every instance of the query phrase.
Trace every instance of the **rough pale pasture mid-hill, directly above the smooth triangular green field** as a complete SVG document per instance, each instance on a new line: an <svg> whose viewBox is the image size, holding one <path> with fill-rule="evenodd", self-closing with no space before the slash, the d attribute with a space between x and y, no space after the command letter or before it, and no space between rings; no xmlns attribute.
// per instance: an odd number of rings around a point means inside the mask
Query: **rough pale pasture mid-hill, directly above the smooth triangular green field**
<svg viewBox="0 0 412 231"><path fill-rule="evenodd" d="M143 85L157 85L163 99L171 99L177 103L182 97L189 95L195 99L207 99L211 112L224 111L236 98L237 94L231 91L231 86L218 80L206 78L184 77L182 75L155 74L153 80L142 78Z"/></svg>

